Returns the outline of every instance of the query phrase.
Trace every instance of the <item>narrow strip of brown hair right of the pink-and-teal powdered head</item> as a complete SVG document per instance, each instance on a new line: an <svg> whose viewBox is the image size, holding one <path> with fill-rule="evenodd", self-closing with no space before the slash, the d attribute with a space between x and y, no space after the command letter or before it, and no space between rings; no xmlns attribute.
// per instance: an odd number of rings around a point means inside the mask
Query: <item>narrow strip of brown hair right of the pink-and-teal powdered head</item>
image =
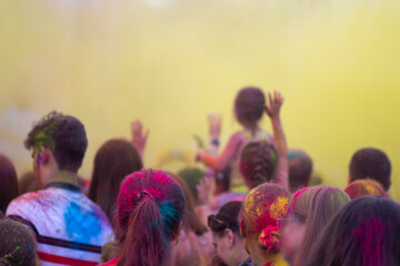
<svg viewBox="0 0 400 266"><path fill-rule="evenodd" d="M200 217L197 215L196 211L194 211L194 203L193 203L193 196L190 193L190 190L188 187L188 185L184 183L184 181L182 180L182 177L180 177L177 174L172 174L170 173L170 175L176 178L176 181L178 181L179 185L181 186L183 194L184 194L184 202L186 202L186 218L189 228L191 231L194 232L196 235L202 235L204 234L208 229L207 226L203 225L200 221Z"/></svg>

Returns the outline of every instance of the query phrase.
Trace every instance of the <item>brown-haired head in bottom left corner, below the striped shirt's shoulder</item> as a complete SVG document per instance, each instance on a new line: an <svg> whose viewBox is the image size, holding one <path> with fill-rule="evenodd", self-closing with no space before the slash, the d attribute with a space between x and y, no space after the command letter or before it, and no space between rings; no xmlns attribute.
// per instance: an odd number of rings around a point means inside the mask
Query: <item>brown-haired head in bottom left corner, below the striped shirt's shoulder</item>
<svg viewBox="0 0 400 266"><path fill-rule="evenodd" d="M0 265L36 266L36 241L22 224L9 218L0 219Z"/></svg>

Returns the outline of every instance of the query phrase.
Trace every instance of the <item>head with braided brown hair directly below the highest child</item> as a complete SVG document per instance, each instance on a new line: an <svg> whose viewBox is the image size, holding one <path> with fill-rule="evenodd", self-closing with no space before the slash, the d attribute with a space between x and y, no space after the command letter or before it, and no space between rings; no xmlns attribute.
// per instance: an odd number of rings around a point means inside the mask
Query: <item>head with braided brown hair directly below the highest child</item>
<svg viewBox="0 0 400 266"><path fill-rule="evenodd" d="M249 142L240 154L239 171L251 190L272 180L278 163L274 146L267 141Z"/></svg>

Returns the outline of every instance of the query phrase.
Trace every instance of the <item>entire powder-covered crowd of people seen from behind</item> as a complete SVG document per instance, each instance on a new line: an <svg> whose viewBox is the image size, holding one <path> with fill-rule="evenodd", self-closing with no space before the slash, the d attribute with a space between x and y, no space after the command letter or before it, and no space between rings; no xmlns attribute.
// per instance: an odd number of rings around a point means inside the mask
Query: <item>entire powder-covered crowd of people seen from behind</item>
<svg viewBox="0 0 400 266"><path fill-rule="evenodd" d="M241 89L242 130L219 150L221 116L209 114L202 167L178 173L143 165L149 132L136 121L131 140L101 145L90 181L78 175L83 124L50 112L24 141L31 173L18 178L0 154L0 265L400 265L387 154L356 151L344 190L311 186L312 158L288 149L282 105L279 92Z"/></svg>

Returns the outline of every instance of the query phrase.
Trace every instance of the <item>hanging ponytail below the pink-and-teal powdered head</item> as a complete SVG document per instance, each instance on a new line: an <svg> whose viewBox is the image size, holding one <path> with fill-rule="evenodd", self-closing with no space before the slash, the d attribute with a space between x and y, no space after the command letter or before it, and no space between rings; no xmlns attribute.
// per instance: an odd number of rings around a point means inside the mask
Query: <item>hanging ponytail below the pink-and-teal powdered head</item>
<svg viewBox="0 0 400 266"><path fill-rule="evenodd" d="M171 245L162 232L160 209L150 195L146 195L140 201L129 217L119 266L168 265Z"/></svg>

